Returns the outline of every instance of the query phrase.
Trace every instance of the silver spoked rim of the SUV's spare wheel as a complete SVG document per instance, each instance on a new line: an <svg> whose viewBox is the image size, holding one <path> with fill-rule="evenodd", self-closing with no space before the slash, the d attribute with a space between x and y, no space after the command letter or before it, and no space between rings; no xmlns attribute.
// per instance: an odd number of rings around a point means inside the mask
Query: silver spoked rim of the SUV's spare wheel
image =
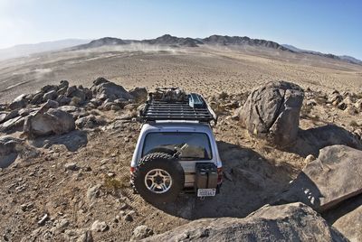
<svg viewBox="0 0 362 242"><path fill-rule="evenodd" d="M172 178L165 170L153 169L146 174L145 185L149 191L165 193L172 186Z"/></svg>

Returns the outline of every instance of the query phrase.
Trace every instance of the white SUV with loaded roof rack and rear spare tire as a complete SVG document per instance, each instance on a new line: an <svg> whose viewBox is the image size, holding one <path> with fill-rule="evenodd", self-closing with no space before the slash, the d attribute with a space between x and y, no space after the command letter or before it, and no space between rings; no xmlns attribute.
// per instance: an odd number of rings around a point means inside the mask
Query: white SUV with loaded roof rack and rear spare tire
<svg viewBox="0 0 362 242"><path fill-rule="evenodd" d="M182 190L214 196L223 172L210 126L216 116L205 99L157 89L140 116L144 124L130 164L134 190L151 203L175 200Z"/></svg>

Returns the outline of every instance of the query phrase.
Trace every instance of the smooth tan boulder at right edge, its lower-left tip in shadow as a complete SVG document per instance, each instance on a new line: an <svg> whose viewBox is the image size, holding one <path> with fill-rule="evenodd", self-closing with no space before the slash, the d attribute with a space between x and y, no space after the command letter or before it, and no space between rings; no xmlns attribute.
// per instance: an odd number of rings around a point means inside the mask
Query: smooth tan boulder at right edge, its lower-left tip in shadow
<svg viewBox="0 0 362 242"><path fill-rule="evenodd" d="M362 151L332 145L319 151L276 204L301 201L317 211L330 209L362 193Z"/></svg>

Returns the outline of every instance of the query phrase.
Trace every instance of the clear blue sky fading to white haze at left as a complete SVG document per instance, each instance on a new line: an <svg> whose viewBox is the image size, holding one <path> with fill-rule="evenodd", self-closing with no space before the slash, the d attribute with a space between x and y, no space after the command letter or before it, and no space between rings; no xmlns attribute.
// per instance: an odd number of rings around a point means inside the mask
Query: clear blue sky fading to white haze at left
<svg viewBox="0 0 362 242"><path fill-rule="evenodd" d="M362 1L0 0L0 48L67 38L249 36L362 59Z"/></svg>

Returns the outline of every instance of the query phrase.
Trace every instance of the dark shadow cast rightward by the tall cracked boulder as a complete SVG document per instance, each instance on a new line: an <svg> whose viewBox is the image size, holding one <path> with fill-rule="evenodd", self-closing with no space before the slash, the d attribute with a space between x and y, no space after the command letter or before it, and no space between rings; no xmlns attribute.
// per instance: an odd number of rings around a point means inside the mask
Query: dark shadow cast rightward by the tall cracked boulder
<svg viewBox="0 0 362 242"><path fill-rule="evenodd" d="M362 143L348 130L340 126L320 126L299 131L296 143L290 148L290 152L306 157L309 154L319 155L319 150L334 144L344 144L349 147L362 150Z"/></svg>

